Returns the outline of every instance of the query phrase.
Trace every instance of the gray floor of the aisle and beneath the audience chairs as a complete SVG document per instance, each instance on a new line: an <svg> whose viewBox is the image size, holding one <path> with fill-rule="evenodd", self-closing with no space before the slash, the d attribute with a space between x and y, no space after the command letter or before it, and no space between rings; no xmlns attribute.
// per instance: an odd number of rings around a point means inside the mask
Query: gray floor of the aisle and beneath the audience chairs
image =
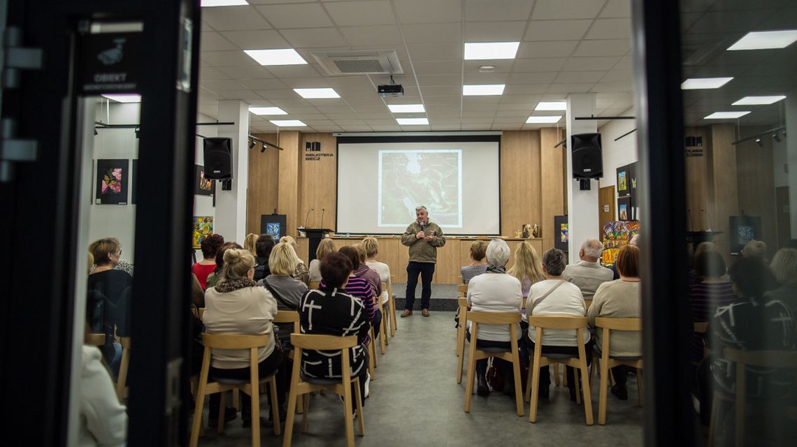
<svg viewBox="0 0 797 447"><path fill-rule="evenodd" d="M603 426L597 424L598 390L593 390L592 398L595 425L588 426L583 407L570 402L563 386L552 387L550 402L540 402L534 424L528 422L528 404L526 415L519 418L514 400L501 393L488 398L474 394L470 413L465 413L465 379L457 384L455 378L455 340L453 312L398 319L387 354L377 354L376 380L364 407L366 434L355 436L357 445L642 445L642 408L637 406L636 380L631 377L628 401L609 394L608 421ZM345 445L340 400L327 392L313 397L311 407L308 432L300 433L299 417L293 445ZM267 406L262 408L262 414L267 411ZM199 444L250 445L250 433L241 428L239 418L227 425L225 433L208 430ZM281 445L281 441L271 429L261 430L262 445Z"/></svg>

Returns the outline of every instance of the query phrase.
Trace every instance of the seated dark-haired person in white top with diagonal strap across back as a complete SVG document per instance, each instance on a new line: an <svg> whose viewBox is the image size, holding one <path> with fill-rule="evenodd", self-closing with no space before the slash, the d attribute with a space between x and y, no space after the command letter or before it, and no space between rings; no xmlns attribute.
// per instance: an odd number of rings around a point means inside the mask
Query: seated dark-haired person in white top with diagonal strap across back
<svg viewBox="0 0 797 447"><path fill-rule="evenodd" d="M550 249L543 254L543 274L545 280L532 284L526 300L526 315L529 316L586 316L587 304L581 290L575 284L567 282L562 272L567 266L567 255L562 250ZM534 352L536 327L528 325L528 352ZM590 332L583 331L583 340L587 353L591 351ZM569 329L546 329L543 331L542 352L544 354L578 355L578 339L575 331ZM587 363L591 363L591 355L587 354ZM575 378L570 367L567 371L567 387L570 388L570 399L575 402ZM548 367L540 368L540 399L548 398L551 375Z"/></svg>

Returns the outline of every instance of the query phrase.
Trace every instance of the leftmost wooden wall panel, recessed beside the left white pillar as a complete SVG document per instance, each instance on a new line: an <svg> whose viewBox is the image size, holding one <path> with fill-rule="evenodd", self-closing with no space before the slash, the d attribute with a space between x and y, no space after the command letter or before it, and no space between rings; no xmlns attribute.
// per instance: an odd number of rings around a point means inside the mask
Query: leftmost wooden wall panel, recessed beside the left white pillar
<svg viewBox="0 0 797 447"><path fill-rule="evenodd" d="M257 134L257 138L274 142L276 134ZM259 146L255 147L257 149ZM249 186L246 194L246 233L260 234L261 214L272 214L277 208L280 151L269 147L265 152L249 151Z"/></svg>

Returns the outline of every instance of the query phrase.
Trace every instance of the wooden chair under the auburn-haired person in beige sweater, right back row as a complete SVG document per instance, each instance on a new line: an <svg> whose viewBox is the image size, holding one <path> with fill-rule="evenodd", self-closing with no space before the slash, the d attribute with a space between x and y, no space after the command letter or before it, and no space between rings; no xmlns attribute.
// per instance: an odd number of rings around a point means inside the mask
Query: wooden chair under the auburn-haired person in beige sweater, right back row
<svg viewBox="0 0 797 447"><path fill-rule="evenodd" d="M609 370L613 367L626 365L637 369L637 395L639 405L642 406L642 357L614 357L609 355L609 337L611 331L642 331L642 319L640 318L595 318L595 329L603 329L603 337L599 352L594 352L592 357L592 368L595 369L595 360L600 354L600 400L598 403L598 423L606 425L606 405L607 387L609 382ZM641 336L641 335L640 335ZM597 347L595 351L598 351ZM590 377L590 383L592 382Z"/></svg>

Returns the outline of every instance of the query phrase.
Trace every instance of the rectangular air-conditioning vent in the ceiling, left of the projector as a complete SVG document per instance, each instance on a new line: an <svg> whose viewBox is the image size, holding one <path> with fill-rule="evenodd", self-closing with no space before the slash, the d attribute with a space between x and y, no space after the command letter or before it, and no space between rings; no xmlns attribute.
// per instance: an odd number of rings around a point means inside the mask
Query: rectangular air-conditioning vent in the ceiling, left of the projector
<svg viewBox="0 0 797 447"><path fill-rule="evenodd" d="M312 52L312 57L332 76L402 74L395 50Z"/></svg>

